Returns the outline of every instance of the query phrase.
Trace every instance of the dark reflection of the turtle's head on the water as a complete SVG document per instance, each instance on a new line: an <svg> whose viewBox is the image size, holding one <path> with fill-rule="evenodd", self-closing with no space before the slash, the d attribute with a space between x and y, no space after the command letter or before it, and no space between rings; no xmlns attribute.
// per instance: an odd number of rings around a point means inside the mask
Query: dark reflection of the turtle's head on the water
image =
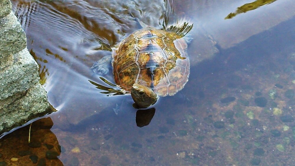
<svg viewBox="0 0 295 166"><path fill-rule="evenodd" d="M138 110L136 112L136 125L138 127L144 127L149 125L151 119L154 117L156 108L149 108L146 110Z"/></svg>

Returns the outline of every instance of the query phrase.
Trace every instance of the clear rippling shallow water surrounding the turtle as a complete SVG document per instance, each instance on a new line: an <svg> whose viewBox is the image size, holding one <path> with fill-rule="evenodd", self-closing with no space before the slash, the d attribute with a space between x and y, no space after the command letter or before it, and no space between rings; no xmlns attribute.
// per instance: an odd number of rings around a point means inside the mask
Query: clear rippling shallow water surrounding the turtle
<svg viewBox="0 0 295 166"><path fill-rule="evenodd" d="M12 1L58 112L32 123L30 146L29 126L1 138L0 162L294 165L295 2L238 12L252 2ZM90 67L140 29L135 18L194 23L188 83L147 115L137 115L130 95L107 96L89 82L108 86ZM150 123L138 127L136 116L149 117L139 126Z"/></svg>

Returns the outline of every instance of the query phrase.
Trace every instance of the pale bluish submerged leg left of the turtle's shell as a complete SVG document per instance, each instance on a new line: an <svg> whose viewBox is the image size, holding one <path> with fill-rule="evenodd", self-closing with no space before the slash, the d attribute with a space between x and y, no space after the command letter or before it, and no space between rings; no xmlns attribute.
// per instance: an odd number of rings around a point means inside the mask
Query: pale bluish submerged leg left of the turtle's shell
<svg viewBox="0 0 295 166"><path fill-rule="evenodd" d="M100 60L96 61L91 67L94 73L101 76L106 75L110 70L112 70L112 56L104 56Z"/></svg>

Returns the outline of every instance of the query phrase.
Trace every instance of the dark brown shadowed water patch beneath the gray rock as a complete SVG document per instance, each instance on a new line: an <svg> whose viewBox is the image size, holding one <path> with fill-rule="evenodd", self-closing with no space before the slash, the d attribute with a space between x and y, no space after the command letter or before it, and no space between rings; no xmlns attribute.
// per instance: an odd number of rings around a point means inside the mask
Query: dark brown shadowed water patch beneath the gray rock
<svg viewBox="0 0 295 166"><path fill-rule="evenodd" d="M56 135L50 131L53 126L51 118L43 118L20 128L0 140L0 163L10 165L12 158L17 158L17 165L62 166L58 160L63 148ZM29 143L30 133L30 143ZM15 159L16 160L16 159ZM37 164L36 164L37 163Z"/></svg>

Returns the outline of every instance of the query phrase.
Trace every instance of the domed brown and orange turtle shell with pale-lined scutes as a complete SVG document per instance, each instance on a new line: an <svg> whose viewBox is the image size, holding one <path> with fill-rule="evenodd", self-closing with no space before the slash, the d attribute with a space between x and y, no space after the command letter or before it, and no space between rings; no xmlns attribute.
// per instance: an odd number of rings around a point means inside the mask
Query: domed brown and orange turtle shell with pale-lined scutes
<svg viewBox="0 0 295 166"><path fill-rule="evenodd" d="M113 49L115 83L126 91L145 85L159 96L175 95L188 81L187 44L172 32L154 27L138 30Z"/></svg>

